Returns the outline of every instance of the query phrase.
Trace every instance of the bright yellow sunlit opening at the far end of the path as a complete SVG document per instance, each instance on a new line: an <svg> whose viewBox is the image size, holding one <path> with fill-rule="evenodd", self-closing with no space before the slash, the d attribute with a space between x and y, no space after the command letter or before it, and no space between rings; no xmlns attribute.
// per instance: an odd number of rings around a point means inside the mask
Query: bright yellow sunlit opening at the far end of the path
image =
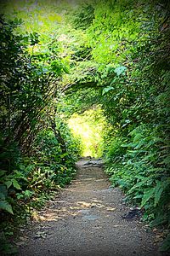
<svg viewBox="0 0 170 256"><path fill-rule="evenodd" d="M83 114L74 113L68 125L73 135L81 140L82 156L102 155L105 118L100 108L90 109Z"/></svg>

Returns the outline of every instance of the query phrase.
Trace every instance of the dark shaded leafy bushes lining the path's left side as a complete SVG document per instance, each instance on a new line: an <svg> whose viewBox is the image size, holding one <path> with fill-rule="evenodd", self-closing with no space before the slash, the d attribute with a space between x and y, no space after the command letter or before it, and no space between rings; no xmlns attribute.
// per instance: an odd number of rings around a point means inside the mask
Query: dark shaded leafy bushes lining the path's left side
<svg viewBox="0 0 170 256"><path fill-rule="evenodd" d="M53 42L34 52L37 32L16 33L20 22L1 19L1 225L13 219L8 214L17 219L24 211L26 218L51 191L70 183L79 154L55 107L65 61Z"/></svg>

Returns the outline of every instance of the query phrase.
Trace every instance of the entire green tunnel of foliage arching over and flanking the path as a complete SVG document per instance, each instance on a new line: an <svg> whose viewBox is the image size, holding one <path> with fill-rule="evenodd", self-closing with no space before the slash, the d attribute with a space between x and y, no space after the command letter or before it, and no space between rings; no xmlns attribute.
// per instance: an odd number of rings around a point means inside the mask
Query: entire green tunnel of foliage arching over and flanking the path
<svg viewBox="0 0 170 256"><path fill-rule="evenodd" d="M127 201L143 209L145 221L165 230L161 250L166 251L170 248L170 4L76 3L3 5L3 236L8 234L5 221L20 221L20 209L26 218L53 191L71 182L82 145L71 134L68 120L74 113L100 108L106 120L105 172Z"/></svg>

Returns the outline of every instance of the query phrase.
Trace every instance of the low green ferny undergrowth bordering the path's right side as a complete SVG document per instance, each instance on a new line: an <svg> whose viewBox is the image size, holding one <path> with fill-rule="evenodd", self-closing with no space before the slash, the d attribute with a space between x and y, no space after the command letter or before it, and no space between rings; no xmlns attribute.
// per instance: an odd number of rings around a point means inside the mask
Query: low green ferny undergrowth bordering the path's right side
<svg viewBox="0 0 170 256"><path fill-rule="evenodd" d="M115 137L105 152L105 172L112 186L119 186L126 201L139 206L143 220L162 228L160 250L169 249L170 177L169 141L162 138L161 127L139 125L127 137Z"/></svg>

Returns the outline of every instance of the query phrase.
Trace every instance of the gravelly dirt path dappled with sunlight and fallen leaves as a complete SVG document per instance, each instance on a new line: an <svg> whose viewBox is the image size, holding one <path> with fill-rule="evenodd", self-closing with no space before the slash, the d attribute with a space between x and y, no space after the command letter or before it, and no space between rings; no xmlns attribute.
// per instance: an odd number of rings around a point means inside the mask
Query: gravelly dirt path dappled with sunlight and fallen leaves
<svg viewBox="0 0 170 256"><path fill-rule="evenodd" d="M122 218L132 209L99 164L77 163L77 179L40 212L42 221L25 231L29 239L20 246L20 256L161 255L139 218Z"/></svg>

